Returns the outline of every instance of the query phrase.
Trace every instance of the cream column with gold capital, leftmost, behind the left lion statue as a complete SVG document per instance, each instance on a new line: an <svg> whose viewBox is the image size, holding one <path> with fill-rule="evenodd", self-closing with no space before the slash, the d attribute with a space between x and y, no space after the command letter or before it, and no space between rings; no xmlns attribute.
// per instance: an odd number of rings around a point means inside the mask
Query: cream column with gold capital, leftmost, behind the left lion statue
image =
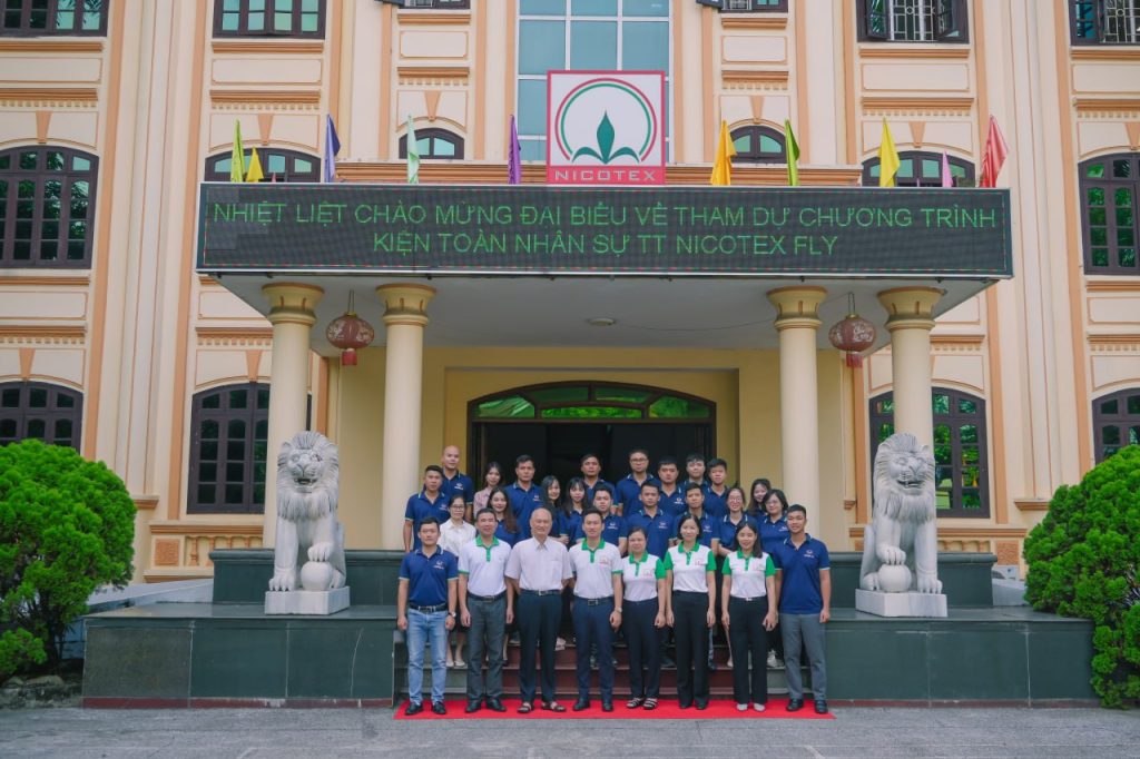
<svg viewBox="0 0 1140 759"><path fill-rule="evenodd" d="M272 369L269 375L269 431L266 448L266 515L262 545L277 537L277 454L282 443L304 430L309 400L309 332L314 310L325 294L315 285L266 285L269 324L274 325Z"/></svg>

